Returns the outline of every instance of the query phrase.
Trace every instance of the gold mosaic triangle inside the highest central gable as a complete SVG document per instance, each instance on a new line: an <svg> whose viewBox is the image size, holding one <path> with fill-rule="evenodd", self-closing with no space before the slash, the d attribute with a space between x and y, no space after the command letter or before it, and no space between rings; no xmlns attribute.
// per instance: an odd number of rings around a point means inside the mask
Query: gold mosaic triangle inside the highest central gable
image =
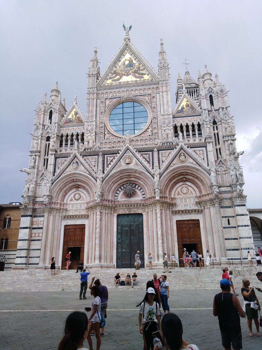
<svg viewBox="0 0 262 350"><path fill-rule="evenodd" d="M137 80L152 80L150 73L144 68L135 55L126 49L115 64L103 85L112 85L126 82L134 82Z"/></svg>

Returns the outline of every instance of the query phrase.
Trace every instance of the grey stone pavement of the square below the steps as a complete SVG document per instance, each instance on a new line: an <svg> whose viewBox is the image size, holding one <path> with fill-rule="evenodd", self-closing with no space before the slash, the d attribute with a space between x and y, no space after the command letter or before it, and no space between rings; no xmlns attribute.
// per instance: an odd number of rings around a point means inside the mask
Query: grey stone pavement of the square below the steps
<svg viewBox="0 0 262 350"><path fill-rule="evenodd" d="M185 284L186 287L186 284ZM143 338L138 329L138 308L145 292L136 290L109 292L108 317L101 350L142 350ZM128 287L127 287L128 288ZM216 290L172 290L169 305L182 321L184 338L200 350L222 349L218 318L213 316ZM262 302L262 293L257 292ZM239 297L242 303L242 296ZM57 349L64 322L70 311L91 306L93 297L79 300L77 292L2 292L0 294L0 349ZM262 337L248 337L247 320L241 318L243 349L261 349ZM255 328L253 326L253 331ZM95 337L92 337L95 349ZM88 343L84 345L88 348Z"/></svg>

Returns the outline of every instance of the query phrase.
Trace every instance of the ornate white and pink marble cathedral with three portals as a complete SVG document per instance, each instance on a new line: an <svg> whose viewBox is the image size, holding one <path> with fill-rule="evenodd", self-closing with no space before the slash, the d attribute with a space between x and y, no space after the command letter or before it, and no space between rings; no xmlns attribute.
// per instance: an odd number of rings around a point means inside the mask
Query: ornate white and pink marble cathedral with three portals
<svg viewBox="0 0 262 350"><path fill-rule="evenodd" d="M34 118L13 268L64 269L78 261L130 268L140 251L153 266L183 248L246 257L254 243L227 89L205 66L178 73L171 106L161 40L158 71L130 42L100 74L90 60L87 106L66 110L57 83ZM174 93L174 92L172 92Z"/></svg>

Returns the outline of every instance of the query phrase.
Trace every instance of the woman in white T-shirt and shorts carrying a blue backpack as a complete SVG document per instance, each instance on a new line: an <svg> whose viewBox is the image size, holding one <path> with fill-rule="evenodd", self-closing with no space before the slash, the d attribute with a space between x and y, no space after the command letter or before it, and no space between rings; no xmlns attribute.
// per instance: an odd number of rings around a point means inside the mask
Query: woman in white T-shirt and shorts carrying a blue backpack
<svg viewBox="0 0 262 350"><path fill-rule="evenodd" d="M90 337L91 331L94 329L96 336L96 350L100 349L101 337L100 337L100 322L101 322L101 299L99 298L98 286L93 286L90 289L90 294L94 296L94 301L92 302L91 315L88 318L90 321L88 325L88 336L87 341L90 350L93 350L92 338Z"/></svg>

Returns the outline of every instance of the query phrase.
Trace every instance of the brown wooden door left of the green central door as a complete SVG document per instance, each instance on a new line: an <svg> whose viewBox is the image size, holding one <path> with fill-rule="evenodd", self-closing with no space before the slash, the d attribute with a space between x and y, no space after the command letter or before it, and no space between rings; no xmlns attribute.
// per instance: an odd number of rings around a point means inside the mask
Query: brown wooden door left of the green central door
<svg viewBox="0 0 262 350"><path fill-rule="evenodd" d="M62 269L66 268L64 258L71 251L69 269L77 269L79 260L84 260L85 225L65 225ZM85 261L84 261L85 264Z"/></svg>

